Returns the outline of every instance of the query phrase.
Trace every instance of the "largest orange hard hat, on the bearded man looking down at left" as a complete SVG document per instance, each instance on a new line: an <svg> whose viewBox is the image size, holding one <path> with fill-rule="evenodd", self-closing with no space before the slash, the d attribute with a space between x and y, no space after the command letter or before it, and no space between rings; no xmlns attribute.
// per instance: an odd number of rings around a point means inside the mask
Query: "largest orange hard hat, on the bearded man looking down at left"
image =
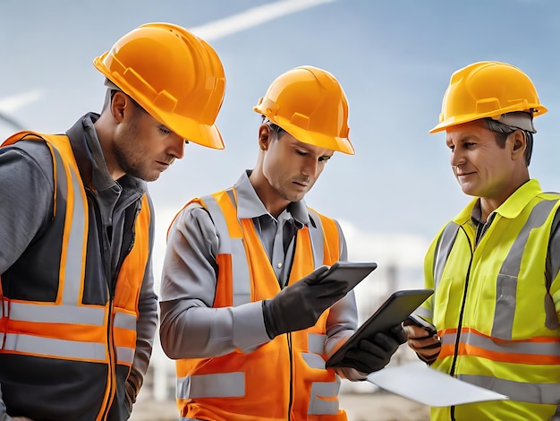
<svg viewBox="0 0 560 421"><path fill-rule="evenodd" d="M174 133L224 149L216 127L225 94L224 67L203 39L171 23L147 23L93 64Z"/></svg>

